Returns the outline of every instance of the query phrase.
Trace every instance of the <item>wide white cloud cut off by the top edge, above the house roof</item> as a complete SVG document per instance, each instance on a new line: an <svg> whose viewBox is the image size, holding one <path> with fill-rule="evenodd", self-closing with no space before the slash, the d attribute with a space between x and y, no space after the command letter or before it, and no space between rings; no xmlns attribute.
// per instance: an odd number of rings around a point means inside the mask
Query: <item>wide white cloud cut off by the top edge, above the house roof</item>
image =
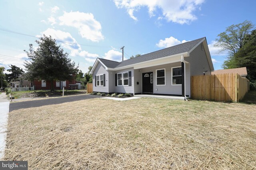
<svg viewBox="0 0 256 170"><path fill-rule="evenodd" d="M113 0L117 8L126 8L129 16L137 21L134 11L140 10L141 7L148 8L150 17L154 12L160 9L162 17L167 21L175 23L190 23L196 20L194 12L200 10L204 0Z"/></svg>

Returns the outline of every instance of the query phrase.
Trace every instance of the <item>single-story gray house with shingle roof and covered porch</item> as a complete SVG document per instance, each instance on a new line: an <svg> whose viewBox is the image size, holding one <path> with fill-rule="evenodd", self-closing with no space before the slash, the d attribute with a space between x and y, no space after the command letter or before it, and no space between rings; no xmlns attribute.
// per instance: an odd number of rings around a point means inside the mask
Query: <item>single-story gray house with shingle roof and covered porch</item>
<svg viewBox="0 0 256 170"><path fill-rule="evenodd" d="M190 96L190 76L214 70L206 38L196 39L122 62L97 58L93 91Z"/></svg>

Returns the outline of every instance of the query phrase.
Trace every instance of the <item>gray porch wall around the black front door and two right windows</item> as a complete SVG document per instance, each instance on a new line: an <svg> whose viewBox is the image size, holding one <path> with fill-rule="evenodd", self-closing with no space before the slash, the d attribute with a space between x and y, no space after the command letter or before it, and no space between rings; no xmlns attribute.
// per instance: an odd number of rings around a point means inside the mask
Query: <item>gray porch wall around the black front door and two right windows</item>
<svg viewBox="0 0 256 170"><path fill-rule="evenodd" d="M141 74L144 72L153 72L153 93L154 94L174 94L181 95L182 94L182 85L172 85L172 67L181 66L181 62L164 64L160 66L153 66L148 68L142 68ZM156 85L156 70L165 68L165 85L159 86ZM136 77L138 74L136 73ZM186 64L186 95L190 94L190 81L187 81L190 77L189 73L189 64ZM139 92L140 88L136 88L136 92ZM157 89L157 90L156 90ZM141 91L142 91L142 83L141 83Z"/></svg>

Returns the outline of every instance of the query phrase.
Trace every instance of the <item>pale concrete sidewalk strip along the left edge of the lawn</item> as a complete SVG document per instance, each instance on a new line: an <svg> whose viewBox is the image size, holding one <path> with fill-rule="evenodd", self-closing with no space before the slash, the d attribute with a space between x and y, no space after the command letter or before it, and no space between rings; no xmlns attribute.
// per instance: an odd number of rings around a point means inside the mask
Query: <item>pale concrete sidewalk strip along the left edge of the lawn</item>
<svg viewBox="0 0 256 170"><path fill-rule="evenodd" d="M8 98L6 97L6 94L1 93L0 94L0 160L3 160L3 158L4 158L9 104L10 104L10 102L8 101Z"/></svg>

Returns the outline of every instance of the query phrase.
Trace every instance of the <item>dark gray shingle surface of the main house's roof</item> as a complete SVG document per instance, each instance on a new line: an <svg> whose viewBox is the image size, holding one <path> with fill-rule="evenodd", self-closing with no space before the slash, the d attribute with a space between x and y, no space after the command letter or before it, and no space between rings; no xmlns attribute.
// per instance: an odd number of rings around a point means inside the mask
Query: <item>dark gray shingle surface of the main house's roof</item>
<svg viewBox="0 0 256 170"><path fill-rule="evenodd" d="M150 61L154 59L159 59L162 57L167 57L170 55L176 55L180 53L185 53L188 52L190 49L192 49L197 43L199 43L203 38L196 39L193 41L188 41L186 43L182 43L179 45L174 45L172 47L168 47L166 49L158 50L152 53L144 54L139 57L134 57L132 59L128 59L122 62L116 62L116 61L111 61L111 60L106 60L106 59L100 59L103 64L105 64L109 68L118 68L122 66L128 66L131 64L136 64L136 63L141 63L144 61Z"/></svg>

